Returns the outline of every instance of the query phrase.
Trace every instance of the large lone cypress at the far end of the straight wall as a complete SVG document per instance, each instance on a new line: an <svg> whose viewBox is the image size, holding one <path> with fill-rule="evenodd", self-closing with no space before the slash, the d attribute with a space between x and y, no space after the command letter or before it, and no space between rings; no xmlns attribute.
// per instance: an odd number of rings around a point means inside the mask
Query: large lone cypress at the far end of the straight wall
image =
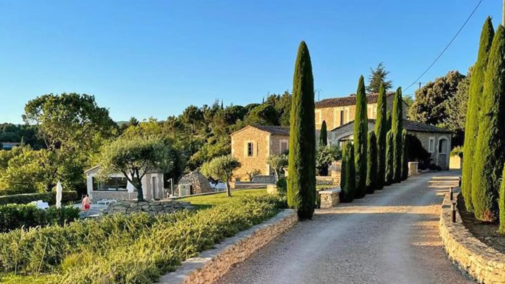
<svg viewBox="0 0 505 284"><path fill-rule="evenodd" d="M298 218L311 219L316 204L316 124L314 77L309 49L301 41L296 56L290 111L287 202Z"/></svg>

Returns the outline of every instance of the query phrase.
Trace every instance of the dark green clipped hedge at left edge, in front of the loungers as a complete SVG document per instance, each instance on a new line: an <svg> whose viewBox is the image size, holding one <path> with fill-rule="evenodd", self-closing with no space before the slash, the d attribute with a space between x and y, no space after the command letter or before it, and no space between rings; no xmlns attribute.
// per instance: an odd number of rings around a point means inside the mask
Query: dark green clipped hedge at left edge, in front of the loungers
<svg viewBox="0 0 505 284"><path fill-rule="evenodd" d="M79 218L79 212L79 208L73 207L53 206L48 209L39 209L35 205L0 205L0 233L22 227L27 230L36 226L64 225Z"/></svg>

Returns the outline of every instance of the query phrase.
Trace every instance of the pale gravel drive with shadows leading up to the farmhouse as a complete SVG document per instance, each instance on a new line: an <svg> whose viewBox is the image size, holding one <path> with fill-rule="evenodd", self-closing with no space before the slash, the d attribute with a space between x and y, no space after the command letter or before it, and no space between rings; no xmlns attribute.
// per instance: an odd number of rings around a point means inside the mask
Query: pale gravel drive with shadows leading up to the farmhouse
<svg viewBox="0 0 505 284"><path fill-rule="evenodd" d="M456 174L423 174L317 210L217 283L474 283L447 260L438 234L442 194Z"/></svg>

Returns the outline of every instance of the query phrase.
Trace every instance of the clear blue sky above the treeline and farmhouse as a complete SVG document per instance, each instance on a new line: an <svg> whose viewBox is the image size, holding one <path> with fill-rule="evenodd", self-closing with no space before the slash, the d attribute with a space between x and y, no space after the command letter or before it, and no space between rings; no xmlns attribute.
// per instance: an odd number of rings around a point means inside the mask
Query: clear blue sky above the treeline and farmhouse
<svg viewBox="0 0 505 284"><path fill-rule="evenodd" d="M302 39L321 99L355 92L379 62L406 87L477 3L1 0L0 122L21 123L26 102L49 92L94 94L116 121L165 119L216 98L260 102L291 89ZM488 15L497 26L501 1L484 0L421 81L466 73Z"/></svg>

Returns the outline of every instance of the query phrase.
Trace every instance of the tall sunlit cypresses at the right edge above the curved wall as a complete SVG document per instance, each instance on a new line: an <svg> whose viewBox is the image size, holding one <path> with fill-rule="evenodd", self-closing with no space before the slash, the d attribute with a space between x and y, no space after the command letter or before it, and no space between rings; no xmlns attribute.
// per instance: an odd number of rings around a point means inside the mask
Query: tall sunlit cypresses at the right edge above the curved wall
<svg viewBox="0 0 505 284"><path fill-rule="evenodd" d="M500 221L505 233L505 28L488 17L470 81L462 194L477 219ZM501 180L501 181L500 181ZM500 184L501 182L501 184Z"/></svg>

